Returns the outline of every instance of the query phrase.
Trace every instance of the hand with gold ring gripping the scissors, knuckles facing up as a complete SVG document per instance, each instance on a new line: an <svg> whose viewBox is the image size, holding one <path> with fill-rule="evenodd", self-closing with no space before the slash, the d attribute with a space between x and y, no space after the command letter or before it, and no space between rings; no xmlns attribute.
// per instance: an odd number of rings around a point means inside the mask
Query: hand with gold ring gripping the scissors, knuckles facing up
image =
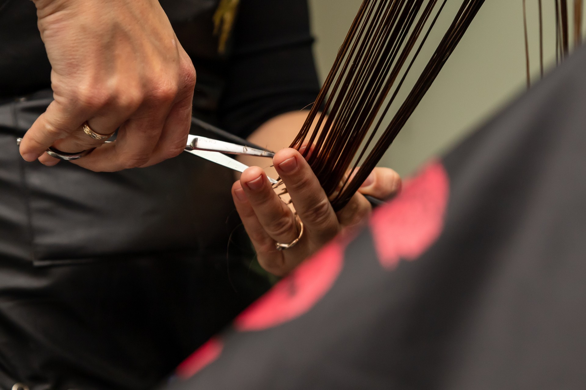
<svg viewBox="0 0 586 390"><path fill-rule="evenodd" d="M94 171L145 167L174 157L189 133L195 70L157 0L33 0L52 65L54 101L26 133L21 154L54 165L54 146Z"/></svg>

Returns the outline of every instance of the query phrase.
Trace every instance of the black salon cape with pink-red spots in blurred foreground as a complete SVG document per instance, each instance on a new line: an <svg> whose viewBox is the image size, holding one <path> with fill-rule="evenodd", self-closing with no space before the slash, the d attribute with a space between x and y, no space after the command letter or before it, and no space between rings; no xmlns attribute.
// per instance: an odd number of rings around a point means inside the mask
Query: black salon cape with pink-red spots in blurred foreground
<svg viewBox="0 0 586 390"><path fill-rule="evenodd" d="M169 389L585 389L586 49L186 360Z"/></svg>

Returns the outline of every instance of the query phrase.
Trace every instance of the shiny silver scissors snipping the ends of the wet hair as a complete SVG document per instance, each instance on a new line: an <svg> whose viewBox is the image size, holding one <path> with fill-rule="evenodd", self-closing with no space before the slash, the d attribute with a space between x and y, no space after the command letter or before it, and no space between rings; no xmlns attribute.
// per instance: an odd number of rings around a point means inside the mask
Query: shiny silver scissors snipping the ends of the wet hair
<svg viewBox="0 0 586 390"><path fill-rule="evenodd" d="M203 127L200 123L197 124L200 125L200 127ZM205 123L205 125L207 125L207 123ZM207 126L211 127L211 125ZM220 135L225 136L225 134L222 133ZM20 145L21 140L22 138L17 139L16 144ZM244 141L243 143L247 142ZM64 151L57 150L54 147L50 147L46 150L46 153L51 157L59 158L59 160L72 161L77 160L83 156L87 156L87 154L91 153L92 150L93 149L88 149L77 153L66 153ZM183 151L238 172L244 172L244 170L248 168L248 165L240 163L240 161L236 161L234 158L228 157L223 153L271 158L275 156L272 151L257 149L256 147L251 146L251 144L246 145L231 143L202 136L195 136L192 134L189 134L185 150ZM274 180L270 177L268 180L272 184L278 183L277 180Z"/></svg>

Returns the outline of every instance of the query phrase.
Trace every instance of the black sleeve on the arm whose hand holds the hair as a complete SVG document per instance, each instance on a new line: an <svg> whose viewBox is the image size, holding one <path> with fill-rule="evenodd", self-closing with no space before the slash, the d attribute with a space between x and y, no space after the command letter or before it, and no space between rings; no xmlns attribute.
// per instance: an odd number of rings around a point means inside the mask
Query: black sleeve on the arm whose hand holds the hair
<svg viewBox="0 0 586 390"><path fill-rule="evenodd" d="M224 129L247 137L319 92L306 0L241 0L219 105Z"/></svg>

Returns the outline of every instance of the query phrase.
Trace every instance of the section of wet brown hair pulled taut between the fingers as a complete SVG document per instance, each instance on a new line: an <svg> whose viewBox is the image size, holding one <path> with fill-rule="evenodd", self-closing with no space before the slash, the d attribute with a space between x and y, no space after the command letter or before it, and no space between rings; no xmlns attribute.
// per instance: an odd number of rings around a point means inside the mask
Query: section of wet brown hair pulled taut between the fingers
<svg viewBox="0 0 586 390"><path fill-rule="evenodd" d="M305 143L315 145L311 154L309 148L303 154L335 210L346 205L383 157L484 0L462 1L413 87L398 98L447 2L364 0L360 6L315 105L291 144L298 150Z"/></svg>

